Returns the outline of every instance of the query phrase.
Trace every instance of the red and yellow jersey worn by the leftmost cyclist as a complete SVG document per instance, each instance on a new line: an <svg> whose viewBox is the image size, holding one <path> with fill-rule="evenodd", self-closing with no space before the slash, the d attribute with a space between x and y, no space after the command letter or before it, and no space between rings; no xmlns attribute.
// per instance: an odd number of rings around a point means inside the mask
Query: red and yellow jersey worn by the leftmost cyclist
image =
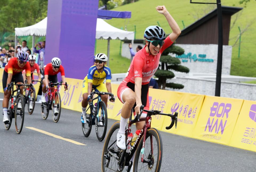
<svg viewBox="0 0 256 172"><path fill-rule="evenodd" d="M22 68L18 65L18 58L14 57L9 60L9 62L5 65L5 72L12 73L13 75L22 72L24 69L26 70L26 76L31 76L30 72L30 64L27 62Z"/></svg>

